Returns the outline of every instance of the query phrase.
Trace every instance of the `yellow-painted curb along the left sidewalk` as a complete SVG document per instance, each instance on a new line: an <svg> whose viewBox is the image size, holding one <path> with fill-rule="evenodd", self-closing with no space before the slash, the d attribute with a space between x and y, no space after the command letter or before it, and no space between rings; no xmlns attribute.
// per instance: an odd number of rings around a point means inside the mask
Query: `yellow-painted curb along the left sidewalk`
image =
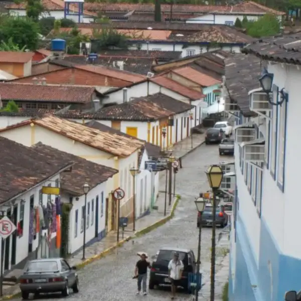
<svg viewBox="0 0 301 301"><path fill-rule="evenodd" d="M107 248L106 250L102 251L99 254L96 254L96 255L94 255L94 256L86 259L85 261L83 261L83 262L81 262L79 264L76 264L75 266L77 267L77 269L81 269L84 266L86 266L87 264L89 264L89 263L91 263L91 262L93 262L93 261L95 261L97 259L101 259L101 258L105 257L106 255L108 255L110 252L112 252L116 248L121 247L125 242L127 242L127 241L129 241L129 240L131 240L131 239L133 239L135 237L142 236L142 235L144 235L144 234L146 234L146 233L148 233L148 232L150 232L152 230L155 230L156 228L158 228L158 227L166 224L169 220L171 220L174 217L176 208L177 208L177 206L179 204L179 201L180 201L180 199L176 198L176 200L175 200L175 202L174 202L174 204L172 206L171 213L168 216L164 217L163 219L155 222L154 224L152 224L150 226L147 226L147 227L145 227L145 228L143 228L141 230L136 231L133 236L128 236L125 239L120 240L115 245ZM13 299L13 298L16 298L16 297L20 297L20 296L21 296L21 292L19 291L19 292L15 293L15 294L12 294L12 295L3 296L0 300L10 300L10 299Z"/></svg>

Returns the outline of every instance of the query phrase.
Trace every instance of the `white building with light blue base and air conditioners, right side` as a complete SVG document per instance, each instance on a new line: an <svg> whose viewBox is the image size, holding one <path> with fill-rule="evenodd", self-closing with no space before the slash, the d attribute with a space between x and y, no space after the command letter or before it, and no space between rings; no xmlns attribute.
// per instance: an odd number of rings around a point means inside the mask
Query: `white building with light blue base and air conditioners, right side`
<svg viewBox="0 0 301 301"><path fill-rule="evenodd" d="M263 62L270 49L282 52L281 57L293 53L301 58L301 53L289 50L290 41L297 40L287 36L283 42L258 42L246 48L249 54L225 62L225 107L236 120L229 301L283 301L285 291L301 289L297 190L301 143L296 138L301 111L300 63L295 60L288 65L273 55ZM274 42L279 49L274 49ZM242 71L246 61L250 68ZM258 75L265 63L260 85ZM269 80L270 89L264 91Z"/></svg>

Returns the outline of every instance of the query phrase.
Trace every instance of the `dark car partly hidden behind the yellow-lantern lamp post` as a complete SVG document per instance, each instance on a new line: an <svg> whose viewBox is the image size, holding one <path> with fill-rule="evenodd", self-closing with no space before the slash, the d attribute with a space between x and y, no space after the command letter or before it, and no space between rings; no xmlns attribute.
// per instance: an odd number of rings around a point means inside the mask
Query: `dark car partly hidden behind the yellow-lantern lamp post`
<svg viewBox="0 0 301 301"><path fill-rule="evenodd" d="M212 226L213 223L213 213L212 213L212 204L208 203L205 206L204 211L202 212L202 226ZM224 206L217 206L215 211L215 221L216 225L220 227L225 227L228 224L228 216L225 214ZM201 223L201 213L198 213L197 226L199 227Z"/></svg>

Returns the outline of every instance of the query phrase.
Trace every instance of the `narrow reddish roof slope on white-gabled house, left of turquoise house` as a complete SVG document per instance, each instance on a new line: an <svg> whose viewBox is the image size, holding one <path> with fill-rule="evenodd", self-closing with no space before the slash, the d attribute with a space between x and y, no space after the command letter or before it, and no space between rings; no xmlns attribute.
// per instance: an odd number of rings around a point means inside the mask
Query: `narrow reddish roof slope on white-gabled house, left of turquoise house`
<svg viewBox="0 0 301 301"><path fill-rule="evenodd" d="M182 86L179 83L177 83L165 76L156 76L156 77L150 78L150 81L152 81L162 87L165 87L169 90L177 92L180 95L188 97L191 100L198 100L198 99L205 97L204 94L202 94L201 92L189 89L185 86Z"/></svg>

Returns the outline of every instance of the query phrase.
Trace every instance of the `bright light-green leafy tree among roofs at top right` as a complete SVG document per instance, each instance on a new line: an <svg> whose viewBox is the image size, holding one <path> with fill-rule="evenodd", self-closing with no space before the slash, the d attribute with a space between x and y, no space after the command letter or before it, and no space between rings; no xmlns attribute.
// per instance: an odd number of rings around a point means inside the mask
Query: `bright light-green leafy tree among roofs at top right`
<svg viewBox="0 0 301 301"><path fill-rule="evenodd" d="M280 23L275 16L266 14L255 22L248 22L246 30L253 38L274 36L280 32Z"/></svg>

